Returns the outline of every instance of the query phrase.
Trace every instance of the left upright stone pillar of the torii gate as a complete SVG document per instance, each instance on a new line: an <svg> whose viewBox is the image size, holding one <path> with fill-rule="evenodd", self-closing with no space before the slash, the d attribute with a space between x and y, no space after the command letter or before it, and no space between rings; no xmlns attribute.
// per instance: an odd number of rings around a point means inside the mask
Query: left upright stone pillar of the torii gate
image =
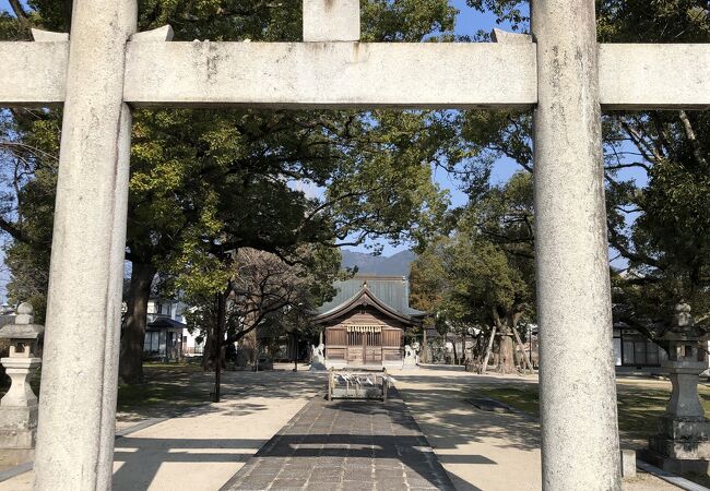
<svg viewBox="0 0 710 491"><path fill-rule="evenodd" d="M111 487L135 0L74 0L49 273L35 489Z"/></svg>

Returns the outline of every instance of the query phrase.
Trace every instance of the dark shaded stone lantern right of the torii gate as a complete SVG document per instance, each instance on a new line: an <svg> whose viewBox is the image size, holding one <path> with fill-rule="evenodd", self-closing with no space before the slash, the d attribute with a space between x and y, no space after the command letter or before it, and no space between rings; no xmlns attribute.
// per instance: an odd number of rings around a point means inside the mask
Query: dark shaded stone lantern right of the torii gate
<svg viewBox="0 0 710 491"><path fill-rule="evenodd" d="M681 301L672 326L661 339L668 343L668 360L663 368L673 383L665 414L659 418L659 434L649 439L641 458L671 472L709 472L710 420L698 396L699 375L707 368L699 356L708 335L696 327L690 306Z"/></svg>

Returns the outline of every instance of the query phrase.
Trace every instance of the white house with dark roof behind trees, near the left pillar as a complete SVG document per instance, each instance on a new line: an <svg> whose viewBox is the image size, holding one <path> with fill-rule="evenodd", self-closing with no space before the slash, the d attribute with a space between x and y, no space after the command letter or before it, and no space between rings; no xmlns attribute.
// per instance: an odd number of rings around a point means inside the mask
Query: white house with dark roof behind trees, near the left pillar
<svg viewBox="0 0 710 491"><path fill-rule="evenodd" d="M204 340L193 337L187 328L187 306L171 299L152 298L147 302L147 324L143 352L149 359L174 361L202 355Z"/></svg>

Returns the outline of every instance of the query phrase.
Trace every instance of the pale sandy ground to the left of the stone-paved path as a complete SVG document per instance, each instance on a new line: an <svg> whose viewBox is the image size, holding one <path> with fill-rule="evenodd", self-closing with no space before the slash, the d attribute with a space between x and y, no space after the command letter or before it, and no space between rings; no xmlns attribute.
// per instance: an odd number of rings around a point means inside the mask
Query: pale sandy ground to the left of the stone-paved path
<svg viewBox="0 0 710 491"><path fill-rule="evenodd" d="M223 403L117 439L114 491L218 490L323 390L326 379L307 372L225 372L223 383ZM0 482L0 491L29 491L32 480L32 472L24 472Z"/></svg>

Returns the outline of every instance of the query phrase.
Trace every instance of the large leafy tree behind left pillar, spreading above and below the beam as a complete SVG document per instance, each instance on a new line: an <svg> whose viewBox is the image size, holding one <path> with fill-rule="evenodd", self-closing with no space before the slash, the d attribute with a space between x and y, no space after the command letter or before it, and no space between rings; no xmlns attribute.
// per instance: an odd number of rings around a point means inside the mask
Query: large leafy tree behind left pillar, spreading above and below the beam
<svg viewBox="0 0 710 491"><path fill-rule="evenodd" d="M15 17L2 17L1 32L8 37L26 38L29 25L66 29L71 2L36 1L33 3L35 9L26 12L22 5L12 7ZM372 1L363 12L363 38L417 41L433 31L450 29L453 13L443 0ZM298 40L300 4L244 0L198 3L153 0L141 3L140 29L165 23L173 25L176 39ZM7 115L13 129L5 134L11 135L14 142L22 142L36 133L32 129L16 131L21 130L22 116L17 111ZM58 111L42 111L39 116L59 120ZM437 192L430 182L422 179L428 176L427 163L435 158L436 146L430 136L435 131L436 121L431 122L427 113L416 111L400 117L386 111L137 111L127 242L127 259L132 264L131 288L121 338L121 379L125 382L142 380L142 339L152 278L161 268L169 268L171 262L179 261L181 251L194 243L194 227L213 220L228 228L222 233L230 233L229 241L234 247L269 251L288 250L308 240L327 243L332 241L333 233L356 243L375 232L397 240L403 229L417 221L416 207L419 211L437 207L433 203L438 200ZM50 132L58 134L58 128L38 134L47 137ZM428 143L419 151L423 141ZM407 152L407 146L415 151ZM56 155L56 149L40 149L43 156ZM17 158L16 152L11 149L10 153L10 160ZM33 158L38 161L37 155ZM362 182L378 181L371 177L377 169L370 160L377 160L379 166L397 165L397 169L386 172L390 178L389 188L368 189L357 184L360 178ZM360 167L368 165L370 168L360 172ZM348 179L355 183L348 183ZM379 181L382 184L382 180ZM245 209L263 205L258 197L270 183L273 184L271 195L279 192L283 195L281 200L271 200L271 203L280 203L274 209L293 215L292 211L298 209L298 205L289 203L294 193L285 190L287 182L305 182L316 188L330 185L328 201L313 207L309 219L301 216L300 223L288 230L264 223L265 217L257 224L261 231L268 227L286 231L282 235L262 233L248 227L255 220L240 220L238 215L244 217ZM400 183L407 188L417 183L422 187L403 192L400 199L393 192ZM342 193L334 192L335 189ZM45 193L51 196L50 190L54 185L45 188ZM379 197L375 196L377 193ZM244 200L235 203L239 201L237 197ZM13 200L10 203L19 207ZM215 203L215 200L223 202ZM225 202L232 207L225 206ZM34 206L34 203L26 205ZM211 215L223 212L228 216ZM50 230L51 207L44 213L49 217L45 221ZM10 215L12 213L5 216ZM323 215L329 216L330 233L323 228L328 221ZM279 221L276 213L269 214L269 217ZM370 226L371 220L377 225ZM291 218L285 221L293 225ZM3 227L0 223L0 227L9 231L10 226L17 225L11 219L8 224ZM351 237L351 233L355 236ZM14 239L22 242L17 237ZM205 240L203 237L202 241ZM35 242L31 246L34 249ZM20 248L17 252L25 250ZM42 244L32 253L48 258L48 247ZM19 291L17 295L25 294Z"/></svg>

